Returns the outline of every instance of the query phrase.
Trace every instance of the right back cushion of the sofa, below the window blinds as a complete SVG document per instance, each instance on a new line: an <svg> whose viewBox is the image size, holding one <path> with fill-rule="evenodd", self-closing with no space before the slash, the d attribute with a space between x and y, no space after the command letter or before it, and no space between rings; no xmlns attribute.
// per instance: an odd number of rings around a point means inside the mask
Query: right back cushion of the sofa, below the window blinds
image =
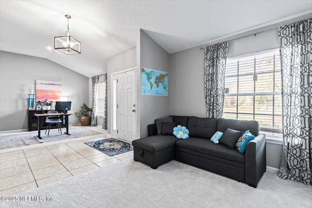
<svg viewBox="0 0 312 208"><path fill-rule="evenodd" d="M225 132L227 128L234 129L234 130L241 131L241 132L245 132L246 130L249 130L255 136L259 134L259 123L257 121L219 118L217 131Z"/></svg>

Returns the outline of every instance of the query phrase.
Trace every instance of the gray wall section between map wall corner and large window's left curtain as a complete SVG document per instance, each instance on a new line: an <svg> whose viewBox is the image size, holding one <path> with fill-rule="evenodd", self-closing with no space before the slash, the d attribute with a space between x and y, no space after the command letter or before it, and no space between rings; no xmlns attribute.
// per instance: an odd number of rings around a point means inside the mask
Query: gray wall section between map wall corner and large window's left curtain
<svg viewBox="0 0 312 208"><path fill-rule="evenodd" d="M169 113L207 117L204 53L198 47L170 56Z"/></svg>

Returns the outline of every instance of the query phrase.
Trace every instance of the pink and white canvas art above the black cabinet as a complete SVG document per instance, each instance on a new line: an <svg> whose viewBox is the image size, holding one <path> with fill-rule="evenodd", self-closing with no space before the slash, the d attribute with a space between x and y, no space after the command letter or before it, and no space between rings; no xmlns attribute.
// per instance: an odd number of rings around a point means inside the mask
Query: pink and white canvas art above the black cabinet
<svg viewBox="0 0 312 208"><path fill-rule="evenodd" d="M62 83L56 81L36 80L36 100L59 101L62 96Z"/></svg>

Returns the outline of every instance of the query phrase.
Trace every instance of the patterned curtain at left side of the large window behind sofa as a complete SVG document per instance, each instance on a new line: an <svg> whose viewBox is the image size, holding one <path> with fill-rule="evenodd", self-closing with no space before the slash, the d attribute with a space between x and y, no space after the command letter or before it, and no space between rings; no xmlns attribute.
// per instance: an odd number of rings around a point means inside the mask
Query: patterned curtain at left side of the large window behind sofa
<svg viewBox="0 0 312 208"><path fill-rule="evenodd" d="M228 41L205 47L205 99L208 118L223 116Z"/></svg>

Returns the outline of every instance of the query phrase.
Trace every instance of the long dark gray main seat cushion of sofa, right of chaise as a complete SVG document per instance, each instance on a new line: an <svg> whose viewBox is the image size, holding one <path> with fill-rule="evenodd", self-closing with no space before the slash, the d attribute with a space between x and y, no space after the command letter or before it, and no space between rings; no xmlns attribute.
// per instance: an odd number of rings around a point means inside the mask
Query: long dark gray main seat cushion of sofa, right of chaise
<svg viewBox="0 0 312 208"><path fill-rule="evenodd" d="M231 149L222 144L214 144L208 139L190 137L176 141L176 147L191 151L212 155L229 161L245 163L245 154L239 153L236 149Z"/></svg>

